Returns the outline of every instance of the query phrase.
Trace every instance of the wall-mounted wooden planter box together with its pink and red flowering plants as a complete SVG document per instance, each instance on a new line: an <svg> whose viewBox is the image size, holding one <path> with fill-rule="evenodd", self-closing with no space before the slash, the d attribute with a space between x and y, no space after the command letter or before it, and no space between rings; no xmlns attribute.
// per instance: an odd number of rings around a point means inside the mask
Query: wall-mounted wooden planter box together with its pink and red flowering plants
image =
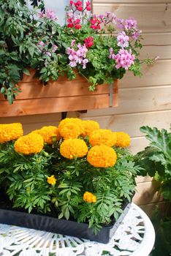
<svg viewBox="0 0 171 256"><path fill-rule="evenodd" d="M118 79L126 69L140 75L137 21L93 15L90 1L78 0L60 26L43 0L31 2L34 10L0 0L1 116L116 106Z"/></svg>

